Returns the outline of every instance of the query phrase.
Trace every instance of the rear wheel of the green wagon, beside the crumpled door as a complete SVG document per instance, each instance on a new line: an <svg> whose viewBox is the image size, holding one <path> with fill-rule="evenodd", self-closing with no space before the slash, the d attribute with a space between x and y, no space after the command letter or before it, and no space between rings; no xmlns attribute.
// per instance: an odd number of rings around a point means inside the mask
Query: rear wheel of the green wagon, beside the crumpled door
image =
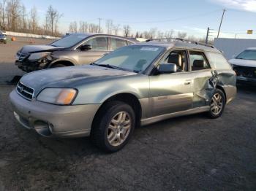
<svg viewBox="0 0 256 191"><path fill-rule="evenodd" d="M212 119L220 117L225 109L226 98L222 90L216 89L210 101L208 116Z"/></svg>

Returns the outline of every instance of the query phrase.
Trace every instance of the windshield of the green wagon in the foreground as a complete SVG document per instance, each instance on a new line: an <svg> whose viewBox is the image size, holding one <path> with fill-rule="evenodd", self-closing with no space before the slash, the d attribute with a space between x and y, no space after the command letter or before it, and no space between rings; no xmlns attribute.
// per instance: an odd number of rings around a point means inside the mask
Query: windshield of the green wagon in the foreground
<svg viewBox="0 0 256 191"><path fill-rule="evenodd" d="M132 45L121 47L114 52L100 58L97 65L112 66L113 68L128 71L144 71L159 56L165 47Z"/></svg>

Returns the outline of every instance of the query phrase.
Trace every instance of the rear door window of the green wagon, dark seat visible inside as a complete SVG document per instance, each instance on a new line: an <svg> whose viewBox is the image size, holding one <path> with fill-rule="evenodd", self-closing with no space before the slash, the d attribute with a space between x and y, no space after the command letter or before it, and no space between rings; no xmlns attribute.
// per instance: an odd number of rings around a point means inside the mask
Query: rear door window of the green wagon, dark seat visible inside
<svg viewBox="0 0 256 191"><path fill-rule="evenodd" d="M192 71L210 69L203 52L189 51L189 63Z"/></svg>

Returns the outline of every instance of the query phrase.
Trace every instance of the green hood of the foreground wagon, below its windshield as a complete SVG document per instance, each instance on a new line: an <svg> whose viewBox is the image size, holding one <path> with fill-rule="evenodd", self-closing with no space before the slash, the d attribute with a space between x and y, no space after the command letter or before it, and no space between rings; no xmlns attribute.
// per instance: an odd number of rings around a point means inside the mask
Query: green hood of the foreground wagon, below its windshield
<svg viewBox="0 0 256 191"><path fill-rule="evenodd" d="M69 66L56 69L34 71L24 75L20 82L35 90L35 95L45 87L75 87L83 83L106 80L137 73L108 69L100 66Z"/></svg>

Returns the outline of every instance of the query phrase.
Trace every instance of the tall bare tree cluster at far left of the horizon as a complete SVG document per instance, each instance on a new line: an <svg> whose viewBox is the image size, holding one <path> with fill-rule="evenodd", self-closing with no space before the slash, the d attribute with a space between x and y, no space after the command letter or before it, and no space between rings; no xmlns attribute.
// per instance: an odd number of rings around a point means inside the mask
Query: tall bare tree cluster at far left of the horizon
<svg viewBox="0 0 256 191"><path fill-rule="evenodd" d="M59 19L62 14L51 5L45 13L45 21L39 23L37 7L27 10L20 0L0 1L0 30L22 33L60 36Z"/></svg>

